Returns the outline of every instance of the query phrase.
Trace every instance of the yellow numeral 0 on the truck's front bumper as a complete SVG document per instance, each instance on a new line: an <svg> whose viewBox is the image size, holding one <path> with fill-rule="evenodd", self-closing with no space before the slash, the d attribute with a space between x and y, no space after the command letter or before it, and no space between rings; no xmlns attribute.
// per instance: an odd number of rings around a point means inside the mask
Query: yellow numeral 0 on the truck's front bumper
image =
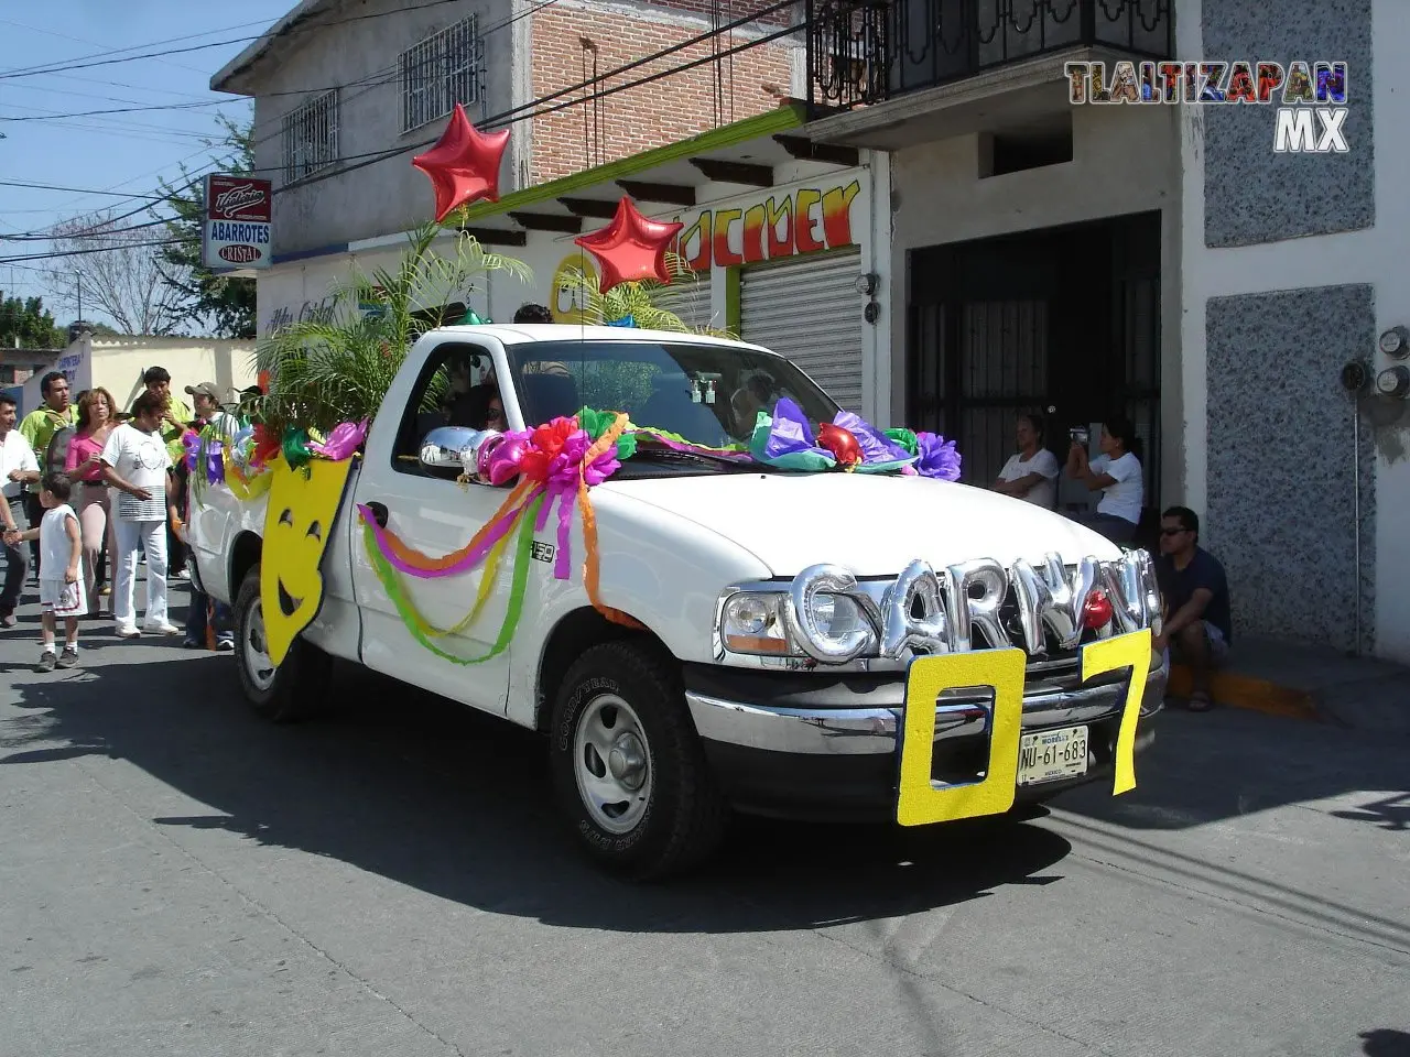
<svg viewBox="0 0 1410 1057"><path fill-rule="evenodd" d="M895 820L902 826L1001 815L1014 806L1018 781L1018 740L1024 726L1022 650L976 650L918 657L905 684L905 722L901 724L901 782ZM935 755L935 700L940 691L981 686L994 691L988 724L988 764L979 782L936 786L931 781Z"/></svg>

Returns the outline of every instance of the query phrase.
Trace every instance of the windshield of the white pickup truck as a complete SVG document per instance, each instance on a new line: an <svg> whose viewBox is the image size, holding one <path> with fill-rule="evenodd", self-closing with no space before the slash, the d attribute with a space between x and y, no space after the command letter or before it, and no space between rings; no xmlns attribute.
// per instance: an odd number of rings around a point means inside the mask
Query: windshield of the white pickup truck
<svg viewBox="0 0 1410 1057"><path fill-rule="evenodd" d="M581 407L712 448L749 444L759 412L794 400L814 423L838 404L783 357L682 341L533 341L506 348L525 423Z"/></svg>

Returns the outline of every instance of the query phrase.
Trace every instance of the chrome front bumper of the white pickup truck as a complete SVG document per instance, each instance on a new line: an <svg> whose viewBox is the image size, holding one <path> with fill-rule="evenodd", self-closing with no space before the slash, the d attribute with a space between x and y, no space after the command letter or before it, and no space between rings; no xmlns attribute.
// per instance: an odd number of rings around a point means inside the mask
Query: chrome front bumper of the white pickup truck
<svg viewBox="0 0 1410 1057"><path fill-rule="evenodd" d="M1160 710L1170 669L1153 668L1141 700L1142 719ZM897 750L897 727L905 712L905 684L897 681L894 703L869 707L781 707L725 700L687 691L695 729L706 741L791 755L878 755ZM1024 693L1024 730L1098 723L1121 715L1125 681L1093 686L1045 686ZM988 731L990 699L942 695L935 703L935 741L969 738Z"/></svg>

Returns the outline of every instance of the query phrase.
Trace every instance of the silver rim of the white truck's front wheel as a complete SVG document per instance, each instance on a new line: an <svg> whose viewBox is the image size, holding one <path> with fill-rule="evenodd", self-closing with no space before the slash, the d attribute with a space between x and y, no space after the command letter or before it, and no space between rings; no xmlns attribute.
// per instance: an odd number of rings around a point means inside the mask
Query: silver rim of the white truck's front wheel
<svg viewBox="0 0 1410 1057"><path fill-rule="evenodd" d="M578 796L609 833L630 833L651 802L651 750L636 710L615 693L588 702L572 740Z"/></svg>

